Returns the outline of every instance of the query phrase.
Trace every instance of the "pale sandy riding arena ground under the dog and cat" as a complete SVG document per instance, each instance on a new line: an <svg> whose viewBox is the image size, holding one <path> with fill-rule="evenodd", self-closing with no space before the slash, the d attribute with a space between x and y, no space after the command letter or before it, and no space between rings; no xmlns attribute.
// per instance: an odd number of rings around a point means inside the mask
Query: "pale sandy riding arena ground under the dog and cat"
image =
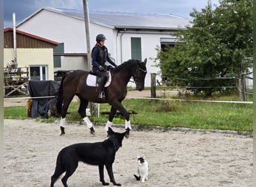
<svg viewBox="0 0 256 187"><path fill-rule="evenodd" d="M4 186L49 186L61 148L79 142L103 141L103 126L91 135L85 125L66 126L35 120L4 120ZM123 132L124 127L113 127ZM136 181L136 157L146 156L149 180ZM252 138L213 132L132 131L124 138L113 165L122 186L252 186ZM105 171L105 180L109 176ZM102 186L96 166L79 164L69 186ZM61 180L55 186L62 186ZM110 186L113 186L112 183Z"/></svg>

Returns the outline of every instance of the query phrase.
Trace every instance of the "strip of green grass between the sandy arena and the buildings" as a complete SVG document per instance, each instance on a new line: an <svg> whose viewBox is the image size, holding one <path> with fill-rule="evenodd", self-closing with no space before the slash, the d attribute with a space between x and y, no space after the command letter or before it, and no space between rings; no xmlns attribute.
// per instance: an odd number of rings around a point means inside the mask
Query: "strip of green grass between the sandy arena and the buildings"
<svg viewBox="0 0 256 187"><path fill-rule="evenodd" d="M187 127L194 129L222 129L238 132L252 132L252 104L212 103L212 102L178 102L169 100L125 99L124 107L136 111L130 117L132 124L141 126ZM82 120L76 112L78 102L72 102L67 120ZM109 111L108 104L100 104L100 111ZM5 119L25 119L26 108L4 108ZM108 116L90 117L94 123L106 123ZM58 120L51 117L44 121L52 123ZM124 124L119 117L113 123Z"/></svg>

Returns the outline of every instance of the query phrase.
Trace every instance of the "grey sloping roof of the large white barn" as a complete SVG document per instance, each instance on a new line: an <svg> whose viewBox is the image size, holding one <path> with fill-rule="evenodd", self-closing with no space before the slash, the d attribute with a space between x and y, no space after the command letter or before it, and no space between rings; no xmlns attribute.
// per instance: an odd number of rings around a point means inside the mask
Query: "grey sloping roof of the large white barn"
<svg viewBox="0 0 256 187"><path fill-rule="evenodd" d="M67 9L67 8L54 8L43 7L41 10L49 10L55 13L61 13L66 16L71 16L75 19L84 20L83 9ZM28 17L22 22L26 22L32 16ZM105 25L115 29L180 29L186 28L189 25L191 19L181 16L174 16L172 14L152 14L152 13L124 13L114 11L90 11L89 18L91 23L98 25ZM19 23L19 25L22 24Z"/></svg>

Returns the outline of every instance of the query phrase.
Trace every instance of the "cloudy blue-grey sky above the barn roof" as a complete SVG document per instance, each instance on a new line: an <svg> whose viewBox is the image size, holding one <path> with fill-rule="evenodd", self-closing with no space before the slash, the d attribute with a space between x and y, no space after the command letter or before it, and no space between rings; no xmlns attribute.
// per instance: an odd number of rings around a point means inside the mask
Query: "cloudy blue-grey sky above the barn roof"
<svg viewBox="0 0 256 187"><path fill-rule="evenodd" d="M83 0L4 0L4 28L12 27L12 14L16 24L41 7L82 8ZM189 18L192 9L200 11L208 0L88 0L89 10L108 10L130 13L174 14ZM219 4L219 0L211 0Z"/></svg>

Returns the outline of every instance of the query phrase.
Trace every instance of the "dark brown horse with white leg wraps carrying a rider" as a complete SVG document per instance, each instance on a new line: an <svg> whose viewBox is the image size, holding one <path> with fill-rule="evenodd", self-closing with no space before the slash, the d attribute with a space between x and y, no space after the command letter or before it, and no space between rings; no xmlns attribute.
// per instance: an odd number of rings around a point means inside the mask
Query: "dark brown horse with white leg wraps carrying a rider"
<svg viewBox="0 0 256 187"><path fill-rule="evenodd" d="M61 116L61 135L65 134L65 123L67 108L73 99L73 96L78 96L80 99L80 105L78 113L87 124L91 134L95 133L93 123L86 116L86 108L88 102L95 103L109 103L111 105L109 120L106 123L105 129L108 132L109 127L112 126L112 120L115 117L116 111L120 111L125 118L125 129L129 131L131 128L129 120L129 112L122 105L122 101L127 95L127 84L131 78L133 78L136 86L136 90L144 90L144 79L147 74L147 58L144 61L129 60L115 67L111 71L112 82L104 91L106 93L105 98L98 98L97 86L88 86L86 79L90 72L85 70L75 70L73 73L64 76L61 79L61 85L58 90L58 96L56 98L55 108L59 116Z"/></svg>

